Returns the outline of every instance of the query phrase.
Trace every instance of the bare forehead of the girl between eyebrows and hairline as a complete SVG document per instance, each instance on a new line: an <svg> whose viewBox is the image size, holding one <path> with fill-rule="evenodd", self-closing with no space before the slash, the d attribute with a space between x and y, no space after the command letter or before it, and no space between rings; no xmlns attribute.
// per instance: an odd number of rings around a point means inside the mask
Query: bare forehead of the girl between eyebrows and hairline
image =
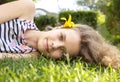
<svg viewBox="0 0 120 82"><path fill-rule="evenodd" d="M81 41L80 34L72 29L61 29L61 32L66 36L64 45L67 53L69 53L71 56L78 54Z"/></svg>

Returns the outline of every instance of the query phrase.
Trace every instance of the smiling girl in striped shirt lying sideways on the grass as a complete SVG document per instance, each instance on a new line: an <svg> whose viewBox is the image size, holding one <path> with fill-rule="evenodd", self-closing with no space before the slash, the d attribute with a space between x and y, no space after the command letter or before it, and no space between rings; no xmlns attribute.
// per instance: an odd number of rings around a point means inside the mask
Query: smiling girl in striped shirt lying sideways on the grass
<svg viewBox="0 0 120 82"><path fill-rule="evenodd" d="M87 25L75 24L56 27L50 31L39 31L33 22L35 6L32 0L18 0L0 5L0 52L7 57L37 56L41 52L47 57L82 57L90 63L120 68L120 52L108 44L102 36ZM28 55L27 53L31 53ZM18 54L21 54L20 56ZM38 54L38 53L37 53Z"/></svg>

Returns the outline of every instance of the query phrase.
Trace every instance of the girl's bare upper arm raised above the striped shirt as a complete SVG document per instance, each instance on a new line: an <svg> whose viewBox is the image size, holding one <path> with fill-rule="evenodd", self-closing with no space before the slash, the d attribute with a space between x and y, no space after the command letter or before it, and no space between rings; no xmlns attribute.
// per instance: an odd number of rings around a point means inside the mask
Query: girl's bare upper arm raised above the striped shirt
<svg viewBox="0 0 120 82"><path fill-rule="evenodd" d="M32 0L18 0L0 5L0 23L14 18L33 20L35 5Z"/></svg>

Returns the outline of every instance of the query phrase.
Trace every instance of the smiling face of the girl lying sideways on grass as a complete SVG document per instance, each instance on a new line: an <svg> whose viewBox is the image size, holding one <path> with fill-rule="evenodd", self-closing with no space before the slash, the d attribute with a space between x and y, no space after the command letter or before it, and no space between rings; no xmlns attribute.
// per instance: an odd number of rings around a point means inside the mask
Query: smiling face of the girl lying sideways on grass
<svg viewBox="0 0 120 82"><path fill-rule="evenodd" d="M80 50L80 35L72 29L55 29L43 32L38 50L47 57L61 58L65 53L76 56Z"/></svg>

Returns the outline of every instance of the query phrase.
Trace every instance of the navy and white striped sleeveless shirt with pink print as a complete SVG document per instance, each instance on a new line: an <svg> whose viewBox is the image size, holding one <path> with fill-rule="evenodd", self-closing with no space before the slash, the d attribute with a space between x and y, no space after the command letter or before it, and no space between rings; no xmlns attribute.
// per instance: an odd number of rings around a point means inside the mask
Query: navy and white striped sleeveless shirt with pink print
<svg viewBox="0 0 120 82"><path fill-rule="evenodd" d="M32 21L19 18L0 24L0 52L29 53L35 51L24 40L24 33L27 29L38 30Z"/></svg>

